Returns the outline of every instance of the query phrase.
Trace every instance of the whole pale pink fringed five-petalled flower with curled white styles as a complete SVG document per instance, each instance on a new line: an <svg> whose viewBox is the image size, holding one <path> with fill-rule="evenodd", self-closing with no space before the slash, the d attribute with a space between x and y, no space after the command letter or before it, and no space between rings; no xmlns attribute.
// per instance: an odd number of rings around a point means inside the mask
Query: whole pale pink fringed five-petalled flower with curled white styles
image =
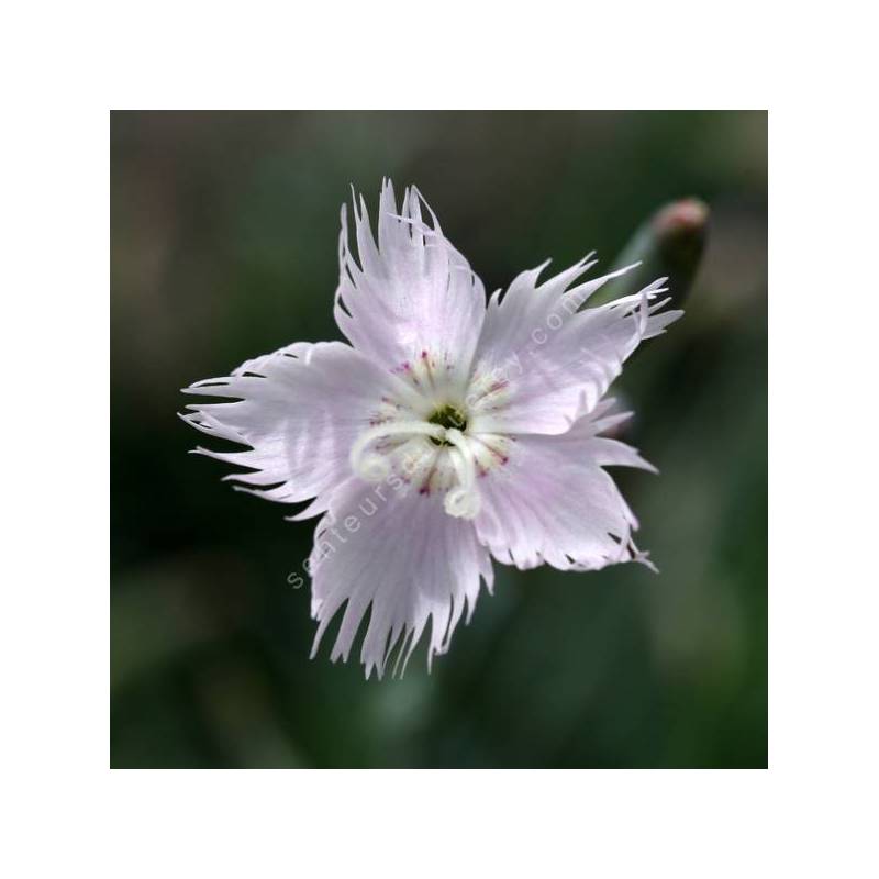
<svg viewBox="0 0 879 879"><path fill-rule="evenodd" d="M525 271L487 302L414 187L398 210L382 183L377 241L363 197L354 224L356 259L343 207L335 318L351 344L297 342L196 382L185 390L225 401L182 418L248 447L194 449L248 468L226 477L242 490L310 501L292 520L321 515L307 565L312 656L345 605L331 658L347 660L369 612L360 658L380 678L394 653L405 668L429 622L429 667L448 648L480 583L491 592L492 558L649 565L603 468L653 467L602 436L627 416L605 393L681 312L659 312L665 279L581 310L627 270L582 280L591 254L543 282L548 264Z"/></svg>

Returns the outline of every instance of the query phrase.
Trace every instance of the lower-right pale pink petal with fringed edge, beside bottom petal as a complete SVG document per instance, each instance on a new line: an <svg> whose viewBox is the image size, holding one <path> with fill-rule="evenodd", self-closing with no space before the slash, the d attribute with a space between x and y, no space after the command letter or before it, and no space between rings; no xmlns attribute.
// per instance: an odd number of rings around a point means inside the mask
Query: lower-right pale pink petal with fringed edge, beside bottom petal
<svg viewBox="0 0 879 879"><path fill-rule="evenodd" d="M507 465L480 480L476 528L498 561L521 569L547 563L561 570L646 561L632 542L637 520L601 467L652 467L596 430L586 416L565 434L514 437Z"/></svg>

